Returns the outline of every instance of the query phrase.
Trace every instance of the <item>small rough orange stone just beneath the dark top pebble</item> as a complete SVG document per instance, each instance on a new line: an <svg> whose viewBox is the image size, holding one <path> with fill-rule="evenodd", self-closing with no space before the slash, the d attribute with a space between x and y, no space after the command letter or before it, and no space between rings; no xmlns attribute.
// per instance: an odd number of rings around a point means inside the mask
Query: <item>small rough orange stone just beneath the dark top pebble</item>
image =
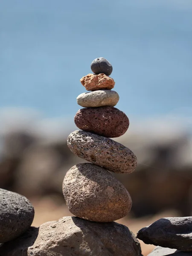
<svg viewBox="0 0 192 256"><path fill-rule="evenodd" d="M80 79L86 90L111 90L115 86L114 80L105 74L88 74Z"/></svg>

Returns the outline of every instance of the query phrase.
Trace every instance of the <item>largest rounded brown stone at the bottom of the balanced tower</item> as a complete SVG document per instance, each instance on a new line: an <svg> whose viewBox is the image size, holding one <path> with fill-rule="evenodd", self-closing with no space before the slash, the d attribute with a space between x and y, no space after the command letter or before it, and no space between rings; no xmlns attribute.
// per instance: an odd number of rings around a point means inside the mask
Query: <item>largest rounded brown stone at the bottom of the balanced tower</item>
<svg viewBox="0 0 192 256"><path fill-rule="evenodd" d="M132 206L131 196L119 180L92 163L79 163L67 172L63 193L70 212L89 221L116 221Z"/></svg>

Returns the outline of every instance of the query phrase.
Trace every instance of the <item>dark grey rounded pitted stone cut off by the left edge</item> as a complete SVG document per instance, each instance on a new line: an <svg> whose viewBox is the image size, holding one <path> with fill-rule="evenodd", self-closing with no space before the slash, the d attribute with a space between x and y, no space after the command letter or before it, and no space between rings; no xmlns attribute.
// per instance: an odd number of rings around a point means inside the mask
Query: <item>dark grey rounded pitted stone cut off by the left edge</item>
<svg viewBox="0 0 192 256"><path fill-rule="evenodd" d="M0 243L15 239L32 224L34 208L27 198L0 189Z"/></svg>

